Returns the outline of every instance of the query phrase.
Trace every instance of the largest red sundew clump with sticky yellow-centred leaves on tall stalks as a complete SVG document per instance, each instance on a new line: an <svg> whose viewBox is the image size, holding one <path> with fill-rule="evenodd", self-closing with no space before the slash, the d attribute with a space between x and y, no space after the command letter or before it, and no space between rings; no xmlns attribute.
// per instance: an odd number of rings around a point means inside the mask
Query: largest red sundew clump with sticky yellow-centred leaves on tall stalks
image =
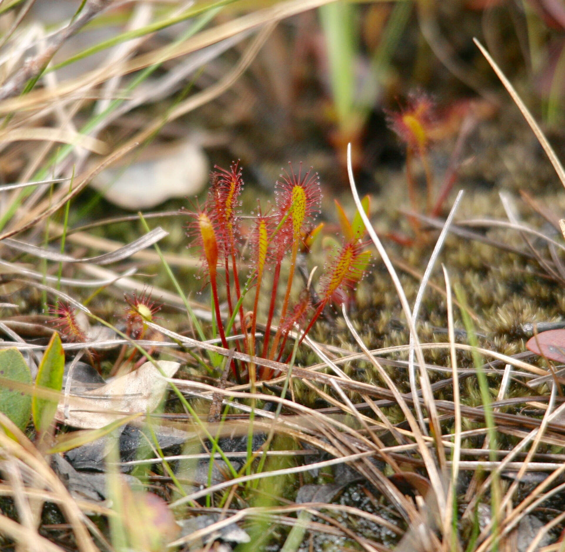
<svg viewBox="0 0 565 552"><path fill-rule="evenodd" d="M258 205L253 217L244 217L240 210L243 184L238 163L229 170L216 167L205 203L190 213L190 247L201 253L202 272L210 284L215 324L223 347L229 348L227 336L237 329L242 335L235 342L237 351L280 361L284 360L293 329L301 329L298 345L324 308L347 300L363 277L370 252L364 248L363 232L344 232L340 247L329 256L319 289L316 291L309 279L293 296L298 256L310 251L323 227L321 223L316 226L321 207L319 176L311 169L304 172L302 165L297 174L289 164L288 171L283 171L276 182L275 205L267 211ZM271 278L265 278L267 273ZM282 286L281 281L286 285ZM246 312L244 299L248 293L253 296L253 308ZM262 294L266 294L268 310L266 317L259 320ZM222 310L224 297L226 308ZM232 360L232 373L238 382L254 380L251 368ZM271 370L260 372L261 378L272 376Z"/></svg>

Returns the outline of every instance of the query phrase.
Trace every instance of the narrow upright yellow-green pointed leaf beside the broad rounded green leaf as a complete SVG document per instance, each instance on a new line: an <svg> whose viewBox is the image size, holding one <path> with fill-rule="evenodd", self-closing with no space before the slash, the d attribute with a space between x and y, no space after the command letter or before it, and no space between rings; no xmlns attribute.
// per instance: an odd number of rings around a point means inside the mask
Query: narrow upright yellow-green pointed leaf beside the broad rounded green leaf
<svg viewBox="0 0 565 552"><path fill-rule="evenodd" d="M63 372L65 369L65 353L58 333L54 333L49 341L43 360L39 365L36 387L47 387L60 391L63 387ZM33 394L32 414L33 424L38 432L49 428L57 411L57 400L41 399Z"/></svg>

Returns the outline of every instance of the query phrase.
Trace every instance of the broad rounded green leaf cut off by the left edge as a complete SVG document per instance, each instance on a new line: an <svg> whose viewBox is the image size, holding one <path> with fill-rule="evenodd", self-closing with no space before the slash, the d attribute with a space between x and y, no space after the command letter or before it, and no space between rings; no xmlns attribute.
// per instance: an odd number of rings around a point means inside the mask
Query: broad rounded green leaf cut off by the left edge
<svg viewBox="0 0 565 552"><path fill-rule="evenodd" d="M32 375L24 357L16 348L0 351L0 376L31 385ZM22 431L32 413L32 398L24 391L0 386L0 412L4 413Z"/></svg>

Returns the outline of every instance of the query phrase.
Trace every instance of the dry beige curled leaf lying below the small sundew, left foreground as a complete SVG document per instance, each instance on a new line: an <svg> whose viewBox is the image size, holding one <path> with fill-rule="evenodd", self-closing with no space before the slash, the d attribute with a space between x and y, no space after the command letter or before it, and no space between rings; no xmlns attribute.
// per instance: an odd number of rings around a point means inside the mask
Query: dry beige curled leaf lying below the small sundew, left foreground
<svg viewBox="0 0 565 552"><path fill-rule="evenodd" d="M168 360L159 360L157 364L168 378L173 377L180 366ZM103 428L135 412L153 412L159 406L167 385L159 370L146 362L135 372L114 378L98 389L71 396L67 418L62 397L56 420L74 428Z"/></svg>

